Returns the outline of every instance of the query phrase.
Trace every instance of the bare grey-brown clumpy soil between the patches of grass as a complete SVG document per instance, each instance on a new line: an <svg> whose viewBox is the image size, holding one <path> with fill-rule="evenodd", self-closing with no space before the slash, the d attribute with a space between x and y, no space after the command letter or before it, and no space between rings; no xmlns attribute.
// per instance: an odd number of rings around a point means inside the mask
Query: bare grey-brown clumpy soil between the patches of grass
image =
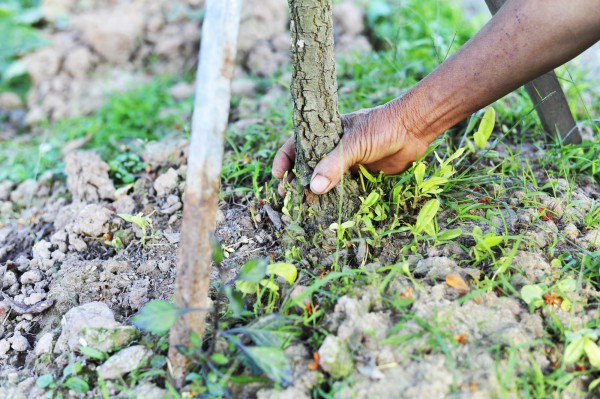
<svg viewBox="0 0 600 399"><path fill-rule="evenodd" d="M124 89L125 81L145 81L157 71L180 73L195 62L200 22L190 13L202 1L88 1L86 7L83 3L43 2L47 18L56 22L47 28L52 45L27 56L35 83L28 104L22 108L28 124L91 112L107 92ZM255 88L248 84L247 74L267 76L287 62L289 32L285 2L246 3L234 90L253 94ZM67 28L59 23L59 16L65 14L72 21ZM100 20L98 15L119 18L101 24L96 22ZM343 3L334 10L334 17L342 27L338 32L340 43L354 46L358 42L370 47L364 29L359 29L363 20L359 8ZM159 61L148 67L151 55L157 55ZM107 87L107 81L113 83ZM263 98L287 98L278 87L270 90ZM174 98L190 93L185 85L174 86L171 91ZM266 112L264 107L252 106L259 118L266 117L260 114ZM242 111L233 110L232 114L243 115ZM237 128L243 130L240 122L244 121L233 120L232 125L237 123ZM171 297L179 250L186 148L185 141L149 146L144 154L149 167L128 190L115 189L108 166L100 157L79 150L65 158L66 179L49 173L19 185L0 182L0 215L4 220L0 224L4 298L0 301L0 397L40 397L36 377L47 372L58 375L76 356L82 339L115 346L134 342L139 333L131 329L130 316L151 299ZM531 144L513 145L511 150L522 154L535 150L537 156L544 156L543 150ZM540 186L549 182L543 170L534 172ZM569 188L568 182L561 179L553 183L554 192L539 191L535 197L525 197L522 185L517 183L482 183L480 189L496 193L494 201L501 205L490 223L477 218L448 223L453 216L448 211L439 216L440 230L460 228L470 233L478 225L484 233L527 237L512 262L519 271L511 280L516 289L536 283L551 286L567 276L577 279L577 271L552 265L548 248L556 245L557 254L600 250L600 230L586 229L582 223L585 212L600 200L600 185L581 181ZM482 198L475 192L455 194L461 201L473 203ZM571 202L566 201L567 195ZM536 218L536 209L529 205L534 200L551 209L554 218ZM222 274L213 271L214 281L231 282L239 267L252 258L284 258L285 233L281 228L286 218L280 211L280 203L258 201L253 193L233 193L220 202L216 234L227 257L220 269ZM152 215L152 228L145 232L118 216L139 212ZM482 209L471 214L486 216ZM122 248L113 241L117 232ZM142 245L144 237L149 238ZM402 234L388 236L377 245L359 241L337 255L344 259L343 270L362 268L374 273L400 262L401 249L410 241ZM374 273L372 284L343 295L324 315L321 324L329 336L319 349L319 370L309 370L313 355L308 345L296 343L285 351L293 365L292 386L276 392L266 383L249 384L234 397L308 398L323 375L329 374L344 377L344 382L333 386L338 397L387 398L390 392L401 392L407 398L488 398L501 389L511 389L515 381L502 379L510 368L519 370L531 359L542 370L555 367L563 347L552 343L548 326L555 326L558 318L576 330L593 320L597 317L598 291L589 282L579 281L571 298L572 309L557 307L551 313L532 312L514 295L499 290L477 291L465 297L448 285L448 276L458 275L472 286L493 274L469 267L468 251L474 246L473 240L464 235L456 242L419 248L408 258L414 280L397 274L382 290L376 284L380 277ZM330 266L335 257L333 250L319 248L307 252L302 267L319 273L314 264ZM301 289L306 279L301 274L294 290ZM404 310L390 304L397 298L406 299ZM46 300L53 301L52 306L38 312L35 305ZM318 305L325 304L327 298L313 300ZM19 314L11 301L28 307L31 313ZM403 312L409 309L415 317L404 321ZM416 320L456 336L459 344L445 355L434 353L432 335L425 334L423 323ZM110 339L92 334L92 328L98 326L111 334ZM416 338L400 345L386 343L400 336ZM508 356L505 349L515 347L526 349ZM127 350L127 356L136 359L150 356L139 345ZM340 368L340 363L344 367ZM101 366L98 371L106 378L127 372L111 365ZM576 392L585 392L588 382L581 378L571 384ZM144 382L135 388L133 397L136 395L159 398L166 391ZM72 396L77 397L74 393Z"/></svg>

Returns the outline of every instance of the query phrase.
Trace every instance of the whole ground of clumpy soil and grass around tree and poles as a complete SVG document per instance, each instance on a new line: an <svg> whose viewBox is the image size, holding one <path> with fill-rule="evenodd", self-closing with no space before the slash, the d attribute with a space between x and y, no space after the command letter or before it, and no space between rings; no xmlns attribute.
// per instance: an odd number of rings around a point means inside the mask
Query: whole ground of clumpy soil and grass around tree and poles
<svg viewBox="0 0 600 399"><path fill-rule="evenodd" d="M242 18L223 255L175 390L165 334L201 3L42 2L51 40L20 58L30 94L0 106L1 397L598 397L598 81L559 70L582 145L547 140L517 91L483 146L482 111L407 172L361 173L360 209L307 237L270 176L291 132L277 0ZM342 112L399 95L485 19L335 3Z"/></svg>

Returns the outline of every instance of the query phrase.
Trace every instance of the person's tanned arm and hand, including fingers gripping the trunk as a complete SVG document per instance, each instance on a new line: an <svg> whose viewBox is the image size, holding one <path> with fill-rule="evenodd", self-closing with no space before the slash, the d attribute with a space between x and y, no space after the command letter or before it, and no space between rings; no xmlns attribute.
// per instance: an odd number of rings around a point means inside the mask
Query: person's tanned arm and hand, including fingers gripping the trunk
<svg viewBox="0 0 600 399"><path fill-rule="evenodd" d="M399 173L439 135L600 40L600 0L508 0L456 54L406 94L342 116L340 143L316 166L310 189L323 194L362 164ZM292 175L293 138L273 175ZM281 190L280 190L281 191Z"/></svg>

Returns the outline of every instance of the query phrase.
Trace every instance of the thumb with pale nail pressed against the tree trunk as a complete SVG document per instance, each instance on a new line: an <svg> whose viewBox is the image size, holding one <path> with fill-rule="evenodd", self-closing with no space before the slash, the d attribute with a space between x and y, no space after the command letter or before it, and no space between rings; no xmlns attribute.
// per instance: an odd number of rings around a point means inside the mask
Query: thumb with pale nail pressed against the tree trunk
<svg viewBox="0 0 600 399"><path fill-rule="evenodd" d="M325 194L340 182L342 175L353 164L354 158L347 140L343 136L338 145L325 156L313 172L310 179L310 191L315 194Z"/></svg>

